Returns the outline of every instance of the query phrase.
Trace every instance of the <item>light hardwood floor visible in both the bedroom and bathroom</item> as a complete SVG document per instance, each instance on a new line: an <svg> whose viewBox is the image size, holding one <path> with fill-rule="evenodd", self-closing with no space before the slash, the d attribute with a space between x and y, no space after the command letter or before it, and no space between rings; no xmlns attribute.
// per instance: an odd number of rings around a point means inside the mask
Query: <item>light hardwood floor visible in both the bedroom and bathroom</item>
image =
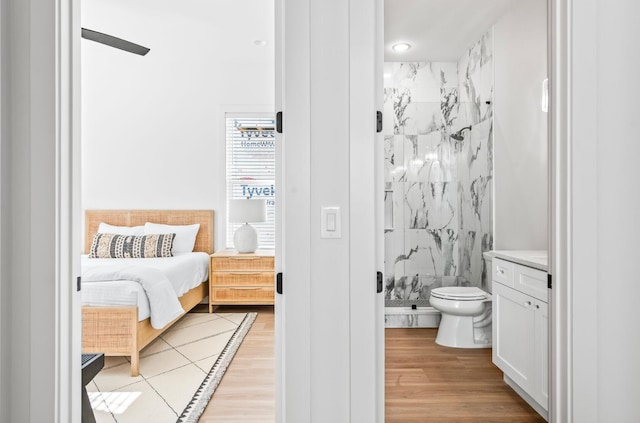
<svg viewBox="0 0 640 423"><path fill-rule="evenodd" d="M219 307L258 311L204 414L202 423L275 419L274 315L271 306ZM444 348L436 329L386 329L386 423L544 422L502 381L491 350Z"/></svg>

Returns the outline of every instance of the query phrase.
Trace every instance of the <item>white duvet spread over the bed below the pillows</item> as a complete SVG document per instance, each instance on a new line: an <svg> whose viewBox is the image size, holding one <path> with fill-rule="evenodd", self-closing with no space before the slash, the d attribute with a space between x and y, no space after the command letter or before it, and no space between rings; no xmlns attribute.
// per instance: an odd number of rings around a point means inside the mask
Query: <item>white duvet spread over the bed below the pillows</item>
<svg viewBox="0 0 640 423"><path fill-rule="evenodd" d="M178 297L207 280L209 255L93 259L82 256L82 304L138 306L138 320L162 328L183 313ZM177 307L176 307L177 305Z"/></svg>

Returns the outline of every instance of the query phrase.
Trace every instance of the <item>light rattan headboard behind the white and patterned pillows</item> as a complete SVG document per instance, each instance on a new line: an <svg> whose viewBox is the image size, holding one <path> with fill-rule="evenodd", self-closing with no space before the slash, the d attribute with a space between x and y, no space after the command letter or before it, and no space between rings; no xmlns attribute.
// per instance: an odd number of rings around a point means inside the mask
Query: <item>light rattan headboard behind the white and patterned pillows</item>
<svg viewBox="0 0 640 423"><path fill-rule="evenodd" d="M200 224L193 251L213 253L213 210L85 210L84 250L89 253L100 222L138 226L146 222L165 225Z"/></svg>

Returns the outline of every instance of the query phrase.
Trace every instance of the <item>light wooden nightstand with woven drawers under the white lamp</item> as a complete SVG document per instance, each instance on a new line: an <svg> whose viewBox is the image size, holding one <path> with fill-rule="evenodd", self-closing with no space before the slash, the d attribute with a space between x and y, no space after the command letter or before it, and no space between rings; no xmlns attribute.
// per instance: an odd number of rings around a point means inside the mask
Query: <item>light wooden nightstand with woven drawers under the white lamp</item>
<svg viewBox="0 0 640 423"><path fill-rule="evenodd" d="M220 304L274 303L273 250L241 254L223 250L209 263L209 313Z"/></svg>

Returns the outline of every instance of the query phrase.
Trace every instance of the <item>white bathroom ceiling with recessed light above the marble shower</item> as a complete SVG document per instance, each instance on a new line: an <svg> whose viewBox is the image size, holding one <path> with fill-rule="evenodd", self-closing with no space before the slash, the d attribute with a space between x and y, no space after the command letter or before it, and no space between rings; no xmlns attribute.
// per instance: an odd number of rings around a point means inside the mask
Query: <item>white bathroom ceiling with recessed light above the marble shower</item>
<svg viewBox="0 0 640 423"><path fill-rule="evenodd" d="M457 61L514 1L385 0L385 62ZM411 49L392 51L400 42Z"/></svg>

